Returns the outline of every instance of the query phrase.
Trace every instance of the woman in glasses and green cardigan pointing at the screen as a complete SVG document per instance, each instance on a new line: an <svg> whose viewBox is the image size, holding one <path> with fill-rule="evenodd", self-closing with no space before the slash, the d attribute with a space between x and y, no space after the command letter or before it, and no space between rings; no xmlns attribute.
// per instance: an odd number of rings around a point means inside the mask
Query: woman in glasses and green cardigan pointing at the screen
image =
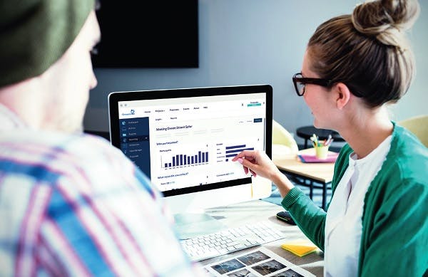
<svg viewBox="0 0 428 277"><path fill-rule="evenodd" d="M325 276L427 276L428 150L395 124L387 105L414 76L404 31L417 1L370 1L322 23L293 78L318 128L340 132L342 147L323 211L263 152L233 160L279 188L282 206L325 252Z"/></svg>

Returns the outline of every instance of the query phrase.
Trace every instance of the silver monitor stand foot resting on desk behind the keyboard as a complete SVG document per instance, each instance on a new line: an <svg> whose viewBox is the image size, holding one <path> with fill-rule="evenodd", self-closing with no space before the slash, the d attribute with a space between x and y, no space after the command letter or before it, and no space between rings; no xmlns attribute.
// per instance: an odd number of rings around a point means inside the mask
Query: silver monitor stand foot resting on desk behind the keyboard
<svg viewBox="0 0 428 277"><path fill-rule="evenodd" d="M226 227L213 216L203 212L174 214L174 219L178 239L190 239L195 236L212 234Z"/></svg>

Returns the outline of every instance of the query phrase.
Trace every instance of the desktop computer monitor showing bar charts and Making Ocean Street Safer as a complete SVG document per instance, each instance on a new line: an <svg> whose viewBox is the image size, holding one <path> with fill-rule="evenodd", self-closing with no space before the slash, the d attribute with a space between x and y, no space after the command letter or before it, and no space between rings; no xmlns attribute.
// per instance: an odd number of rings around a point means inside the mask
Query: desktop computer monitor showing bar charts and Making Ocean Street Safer
<svg viewBox="0 0 428 277"><path fill-rule="evenodd" d="M268 197L272 183L233 157L271 157L272 87L243 85L108 95L111 143L163 192L173 213Z"/></svg>

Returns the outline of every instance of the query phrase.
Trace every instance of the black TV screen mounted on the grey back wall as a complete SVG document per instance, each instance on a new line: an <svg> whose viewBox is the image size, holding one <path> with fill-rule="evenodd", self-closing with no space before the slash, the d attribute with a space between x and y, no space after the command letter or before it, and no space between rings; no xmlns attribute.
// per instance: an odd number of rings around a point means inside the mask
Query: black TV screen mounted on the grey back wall
<svg viewBox="0 0 428 277"><path fill-rule="evenodd" d="M96 68L198 68L198 0L100 1Z"/></svg>

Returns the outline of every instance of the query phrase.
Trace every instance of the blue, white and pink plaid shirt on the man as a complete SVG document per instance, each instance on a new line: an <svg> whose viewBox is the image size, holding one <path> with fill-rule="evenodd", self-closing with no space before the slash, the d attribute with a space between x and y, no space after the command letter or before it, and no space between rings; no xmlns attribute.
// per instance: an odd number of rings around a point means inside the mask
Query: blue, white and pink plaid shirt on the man
<svg viewBox="0 0 428 277"><path fill-rule="evenodd" d="M12 117L0 105L0 276L200 274L161 194L119 150Z"/></svg>

